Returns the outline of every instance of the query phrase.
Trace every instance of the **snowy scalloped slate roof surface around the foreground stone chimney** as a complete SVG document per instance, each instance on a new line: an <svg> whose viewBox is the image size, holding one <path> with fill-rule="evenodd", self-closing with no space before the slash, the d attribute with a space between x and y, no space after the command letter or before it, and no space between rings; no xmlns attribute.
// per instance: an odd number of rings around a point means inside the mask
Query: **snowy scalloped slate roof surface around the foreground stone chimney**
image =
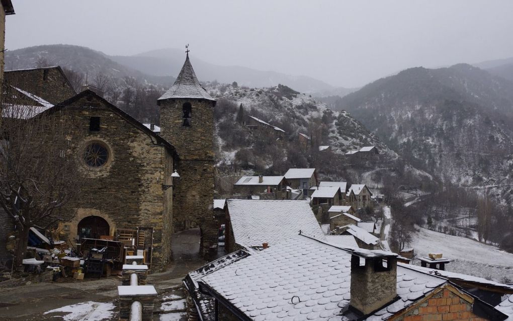
<svg viewBox="0 0 513 321"><path fill-rule="evenodd" d="M400 299L388 306L397 311L446 283L443 278L402 267L398 267L397 275ZM343 320L351 297L351 254L297 235L235 261L201 281L248 319ZM388 307L369 317L381 320L392 313Z"/></svg>

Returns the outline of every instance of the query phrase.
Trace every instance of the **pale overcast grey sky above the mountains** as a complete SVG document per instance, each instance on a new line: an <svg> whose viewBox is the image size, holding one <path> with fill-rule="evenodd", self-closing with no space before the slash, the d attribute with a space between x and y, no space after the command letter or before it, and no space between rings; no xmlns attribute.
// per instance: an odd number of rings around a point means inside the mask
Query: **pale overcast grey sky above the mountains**
<svg viewBox="0 0 513 321"><path fill-rule="evenodd" d="M399 70L513 56L513 1L13 0L6 48L183 48L218 65L358 87Z"/></svg>

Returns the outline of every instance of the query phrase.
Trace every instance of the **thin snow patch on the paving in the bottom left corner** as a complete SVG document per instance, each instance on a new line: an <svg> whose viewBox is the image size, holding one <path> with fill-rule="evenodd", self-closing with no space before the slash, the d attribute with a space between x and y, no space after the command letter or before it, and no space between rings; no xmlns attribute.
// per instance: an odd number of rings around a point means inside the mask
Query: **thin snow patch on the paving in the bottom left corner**
<svg viewBox="0 0 513 321"><path fill-rule="evenodd" d="M45 312L69 312L62 316L65 321L103 321L111 320L114 316L116 306L112 302L100 303L87 301L70 306L65 306Z"/></svg>

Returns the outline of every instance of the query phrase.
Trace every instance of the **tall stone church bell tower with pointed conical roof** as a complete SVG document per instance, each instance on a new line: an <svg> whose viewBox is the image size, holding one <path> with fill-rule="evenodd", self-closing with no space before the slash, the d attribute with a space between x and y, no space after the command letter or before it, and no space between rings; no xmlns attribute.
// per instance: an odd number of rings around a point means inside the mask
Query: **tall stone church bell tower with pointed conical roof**
<svg viewBox="0 0 513 321"><path fill-rule="evenodd" d="M175 169L181 181L173 186L173 230L199 226L201 251L215 249L218 228L213 218L215 100L201 86L189 60L160 106L161 136L176 147L180 156Z"/></svg>

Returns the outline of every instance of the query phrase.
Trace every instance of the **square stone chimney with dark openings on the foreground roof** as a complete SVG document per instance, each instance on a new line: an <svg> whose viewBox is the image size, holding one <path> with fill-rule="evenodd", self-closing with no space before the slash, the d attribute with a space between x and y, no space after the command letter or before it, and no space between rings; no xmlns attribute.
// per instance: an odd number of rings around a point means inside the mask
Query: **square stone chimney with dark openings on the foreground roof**
<svg viewBox="0 0 513 321"><path fill-rule="evenodd" d="M397 254L358 249L351 255L350 306L363 315L397 297Z"/></svg>

